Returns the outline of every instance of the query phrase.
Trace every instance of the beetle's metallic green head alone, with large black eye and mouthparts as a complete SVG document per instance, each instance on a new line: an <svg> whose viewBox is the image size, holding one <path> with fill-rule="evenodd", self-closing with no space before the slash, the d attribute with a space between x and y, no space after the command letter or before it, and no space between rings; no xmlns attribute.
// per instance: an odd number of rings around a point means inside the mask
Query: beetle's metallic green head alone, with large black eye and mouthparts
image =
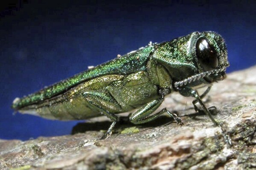
<svg viewBox="0 0 256 170"><path fill-rule="evenodd" d="M199 72L211 72L204 77L208 83L223 80L226 77L227 46L221 35L215 32L199 33L194 41L194 55Z"/></svg>

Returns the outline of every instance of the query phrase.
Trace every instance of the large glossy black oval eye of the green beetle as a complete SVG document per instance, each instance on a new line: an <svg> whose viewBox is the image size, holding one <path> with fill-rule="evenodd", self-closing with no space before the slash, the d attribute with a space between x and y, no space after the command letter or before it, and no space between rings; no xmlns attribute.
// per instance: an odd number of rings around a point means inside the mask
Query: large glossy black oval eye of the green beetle
<svg viewBox="0 0 256 170"><path fill-rule="evenodd" d="M205 38L199 38L196 44L196 54L200 66L204 71L216 69L219 61L217 54L211 44Z"/></svg>

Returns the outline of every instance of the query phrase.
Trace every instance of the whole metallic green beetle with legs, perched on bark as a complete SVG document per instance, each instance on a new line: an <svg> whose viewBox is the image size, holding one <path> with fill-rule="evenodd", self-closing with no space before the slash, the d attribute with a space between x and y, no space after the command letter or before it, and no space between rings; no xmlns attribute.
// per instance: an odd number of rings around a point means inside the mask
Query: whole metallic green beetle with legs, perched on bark
<svg viewBox="0 0 256 170"><path fill-rule="evenodd" d="M182 124L166 108L155 112L166 95L179 92L194 97L195 110L205 112L218 125L201 99L213 82L225 78L227 66L227 48L221 35L193 32L168 42L150 43L24 98L16 98L12 108L58 120L103 114L113 121L103 136L107 138L118 121L116 114L135 108L138 110L129 116L134 124L152 121L165 112ZM200 86L208 86L201 96L196 91Z"/></svg>

